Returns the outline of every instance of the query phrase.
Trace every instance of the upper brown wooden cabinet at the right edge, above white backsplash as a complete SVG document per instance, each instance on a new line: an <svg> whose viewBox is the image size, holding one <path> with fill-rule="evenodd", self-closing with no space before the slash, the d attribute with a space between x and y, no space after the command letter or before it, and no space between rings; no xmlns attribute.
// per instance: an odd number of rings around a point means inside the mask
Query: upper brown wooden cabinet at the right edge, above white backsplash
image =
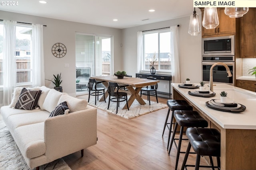
<svg viewBox="0 0 256 170"><path fill-rule="evenodd" d="M249 8L247 14L241 17L241 57L256 58L256 8Z"/></svg>

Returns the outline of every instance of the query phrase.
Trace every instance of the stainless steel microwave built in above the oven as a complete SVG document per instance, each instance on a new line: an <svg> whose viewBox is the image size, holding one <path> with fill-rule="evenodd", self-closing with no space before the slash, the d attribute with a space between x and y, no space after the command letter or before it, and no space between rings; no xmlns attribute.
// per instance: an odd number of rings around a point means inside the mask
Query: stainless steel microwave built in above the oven
<svg viewBox="0 0 256 170"><path fill-rule="evenodd" d="M235 36L202 38L202 56L235 55Z"/></svg>

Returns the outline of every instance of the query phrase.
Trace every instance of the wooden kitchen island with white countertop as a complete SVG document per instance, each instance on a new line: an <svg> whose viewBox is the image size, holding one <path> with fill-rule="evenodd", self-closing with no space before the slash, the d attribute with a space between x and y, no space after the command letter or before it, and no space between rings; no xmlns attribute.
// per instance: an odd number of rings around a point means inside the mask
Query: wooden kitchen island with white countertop
<svg viewBox="0 0 256 170"><path fill-rule="evenodd" d="M206 86L206 88L208 88ZM254 170L256 169L256 93L228 84L216 84L213 91L216 96L203 98L191 96L192 89L179 88L172 83L172 98L186 100L209 123L208 127L216 128L221 133L221 169ZM246 106L240 113L224 112L211 109L206 102L219 99L220 92L228 93L228 100Z"/></svg>

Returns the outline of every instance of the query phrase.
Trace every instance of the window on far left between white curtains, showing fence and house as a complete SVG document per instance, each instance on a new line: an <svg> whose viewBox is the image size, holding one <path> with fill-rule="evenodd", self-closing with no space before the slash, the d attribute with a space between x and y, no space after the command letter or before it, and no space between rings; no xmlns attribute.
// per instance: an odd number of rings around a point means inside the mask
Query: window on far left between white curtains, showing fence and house
<svg viewBox="0 0 256 170"><path fill-rule="evenodd" d="M3 85L3 29L4 25L0 24L0 85ZM16 58L17 85L31 83L31 32L31 26L16 25L16 46L14 55Z"/></svg>

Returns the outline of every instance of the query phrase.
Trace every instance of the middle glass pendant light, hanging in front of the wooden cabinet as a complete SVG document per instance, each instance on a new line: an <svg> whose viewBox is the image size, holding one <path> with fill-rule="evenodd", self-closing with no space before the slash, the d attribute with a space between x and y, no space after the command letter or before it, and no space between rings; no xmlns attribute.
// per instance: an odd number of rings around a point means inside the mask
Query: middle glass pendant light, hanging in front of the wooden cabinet
<svg viewBox="0 0 256 170"><path fill-rule="evenodd" d="M206 29L214 29L219 25L217 8L204 8L202 25Z"/></svg>

